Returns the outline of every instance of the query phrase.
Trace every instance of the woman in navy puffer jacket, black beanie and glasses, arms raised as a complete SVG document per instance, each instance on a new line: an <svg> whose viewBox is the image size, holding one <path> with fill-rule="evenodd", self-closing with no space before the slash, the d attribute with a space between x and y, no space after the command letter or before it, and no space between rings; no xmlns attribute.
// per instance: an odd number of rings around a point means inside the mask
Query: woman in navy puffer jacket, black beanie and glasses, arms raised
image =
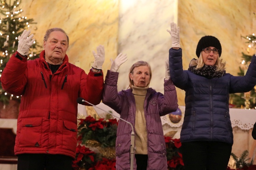
<svg viewBox="0 0 256 170"><path fill-rule="evenodd" d="M185 116L181 130L182 155L186 170L226 170L233 133L229 115L229 94L250 91L256 83L256 57L245 76L225 71L219 59L222 47L214 36L202 37L188 70L182 67L180 28L171 23L170 75L174 85L185 90Z"/></svg>

